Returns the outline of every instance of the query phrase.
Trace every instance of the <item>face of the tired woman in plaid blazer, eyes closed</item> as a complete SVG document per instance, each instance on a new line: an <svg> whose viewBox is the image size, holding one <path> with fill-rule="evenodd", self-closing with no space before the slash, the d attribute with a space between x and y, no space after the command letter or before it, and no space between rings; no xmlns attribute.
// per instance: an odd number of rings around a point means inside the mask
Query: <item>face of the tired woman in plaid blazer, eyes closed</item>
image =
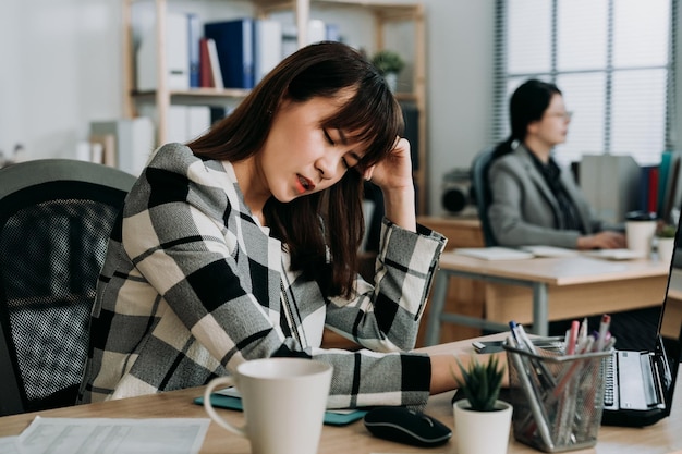
<svg viewBox="0 0 682 454"><path fill-rule="evenodd" d="M361 144L350 143L344 131L321 126L348 96L282 101L259 155L265 184L279 201L328 188L362 158Z"/></svg>

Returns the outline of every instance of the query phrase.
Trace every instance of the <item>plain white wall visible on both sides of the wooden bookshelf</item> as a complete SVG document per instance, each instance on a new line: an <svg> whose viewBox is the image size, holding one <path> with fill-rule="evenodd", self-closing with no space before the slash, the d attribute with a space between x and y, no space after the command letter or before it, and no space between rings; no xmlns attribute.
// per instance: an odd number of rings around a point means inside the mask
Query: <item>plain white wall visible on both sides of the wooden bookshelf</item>
<svg viewBox="0 0 682 454"><path fill-rule="evenodd" d="M410 1L410 0L407 0ZM491 0L424 0L429 208L442 174L485 146L492 77ZM0 150L75 157L90 121L122 114L121 0L0 1Z"/></svg>

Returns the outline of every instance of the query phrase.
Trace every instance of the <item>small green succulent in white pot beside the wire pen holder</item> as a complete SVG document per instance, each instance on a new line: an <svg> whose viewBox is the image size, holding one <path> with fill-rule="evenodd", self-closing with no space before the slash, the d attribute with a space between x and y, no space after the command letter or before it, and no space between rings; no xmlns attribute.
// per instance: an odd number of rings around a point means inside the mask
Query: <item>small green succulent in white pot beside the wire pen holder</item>
<svg viewBox="0 0 682 454"><path fill-rule="evenodd" d="M509 443L512 406L498 400L504 365L491 355L484 364L472 357L467 367L459 360L462 379L458 392L465 398L453 404L454 429L460 454L503 454Z"/></svg>

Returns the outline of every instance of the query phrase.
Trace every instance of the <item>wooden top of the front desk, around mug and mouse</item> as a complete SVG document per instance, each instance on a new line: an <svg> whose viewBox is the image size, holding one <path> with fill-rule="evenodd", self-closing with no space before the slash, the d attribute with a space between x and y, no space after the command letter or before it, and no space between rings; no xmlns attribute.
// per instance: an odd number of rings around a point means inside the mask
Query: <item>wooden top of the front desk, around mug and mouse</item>
<svg viewBox="0 0 682 454"><path fill-rule="evenodd" d="M499 338L499 334L496 335ZM496 338L492 336L492 338ZM460 341L451 344L436 345L423 351L433 353L451 354L455 352L472 351L471 341ZM672 409L669 418L654 426L643 429L602 427L599 432L599 442L595 449L571 451L576 454L663 454L682 453L682 385L678 382L678 405ZM36 415L44 417L121 417L121 418L203 418L206 417L204 408L192 403L193 398L203 394L203 389L174 391L143 397L124 398L120 401L103 402L75 407L59 408L49 412L40 412L25 415L5 416L0 418L0 437L16 435L24 430ZM429 400L426 413L438 418L450 428L453 428L452 406L450 398L452 393L443 393ZM220 410L232 422L243 421L242 415L232 410ZM538 453L537 450L516 443L510 434L510 447L508 453ZM248 442L238 435L220 429L211 422L202 453L234 453L248 454ZM437 449L424 449L402 445L373 438L365 429L362 421L345 427L325 426L320 440L319 454L338 453L456 453L454 440Z"/></svg>

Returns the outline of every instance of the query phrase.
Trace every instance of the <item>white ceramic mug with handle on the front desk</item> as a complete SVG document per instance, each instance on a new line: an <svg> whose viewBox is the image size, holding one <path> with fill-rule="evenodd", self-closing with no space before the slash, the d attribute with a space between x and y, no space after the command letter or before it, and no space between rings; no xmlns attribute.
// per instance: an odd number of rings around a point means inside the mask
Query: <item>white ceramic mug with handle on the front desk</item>
<svg viewBox="0 0 682 454"><path fill-rule="evenodd" d="M253 454L315 454L322 430L331 365L303 358L242 363L236 375L210 381L204 407L222 428L251 441ZM234 385L242 396L245 425L222 419L210 405L217 388Z"/></svg>

